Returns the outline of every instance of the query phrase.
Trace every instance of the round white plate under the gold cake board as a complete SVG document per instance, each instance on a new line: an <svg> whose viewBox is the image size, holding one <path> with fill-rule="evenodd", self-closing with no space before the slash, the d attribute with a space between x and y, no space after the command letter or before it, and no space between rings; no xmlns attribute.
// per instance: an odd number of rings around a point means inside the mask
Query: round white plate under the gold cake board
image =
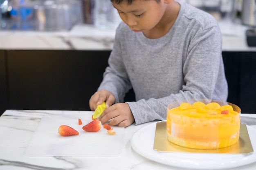
<svg viewBox="0 0 256 170"><path fill-rule="evenodd" d="M225 169L256 162L256 129L247 126L254 152L251 154L207 154L158 152L153 149L156 123L137 130L131 139L132 148L141 156L169 166L197 170Z"/></svg>

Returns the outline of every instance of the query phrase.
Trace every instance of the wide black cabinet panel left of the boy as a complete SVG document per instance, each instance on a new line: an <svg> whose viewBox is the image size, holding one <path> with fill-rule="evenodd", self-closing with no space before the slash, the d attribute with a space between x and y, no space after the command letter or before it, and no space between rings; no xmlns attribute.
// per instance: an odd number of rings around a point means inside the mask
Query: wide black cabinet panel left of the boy
<svg viewBox="0 0 256 170"><path fill-rule="evenodd" d="M90 110L110 51L7 51L9 108Z"/></svg>

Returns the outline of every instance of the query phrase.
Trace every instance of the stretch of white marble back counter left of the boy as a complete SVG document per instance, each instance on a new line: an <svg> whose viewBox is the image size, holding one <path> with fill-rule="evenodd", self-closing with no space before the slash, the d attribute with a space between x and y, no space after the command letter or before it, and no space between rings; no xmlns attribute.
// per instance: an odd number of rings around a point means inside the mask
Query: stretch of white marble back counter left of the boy
<svg viewBox="0 0 256 170"><path fill-rule="evenodd" d="M96 29L90 24L70 31L0 31L0 49L112 50L115 29Z"/></svg>

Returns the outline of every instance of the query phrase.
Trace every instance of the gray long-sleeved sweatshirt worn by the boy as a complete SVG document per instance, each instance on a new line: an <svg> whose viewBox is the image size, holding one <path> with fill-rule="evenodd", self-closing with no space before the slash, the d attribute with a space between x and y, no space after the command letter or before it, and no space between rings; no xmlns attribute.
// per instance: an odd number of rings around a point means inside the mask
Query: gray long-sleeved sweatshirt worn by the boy
<svg viewBox="0 0 256 170"><path fill-rule="evenodd" d="M110 91L117 103L133 88L136 101L127 103L136 125L165 120L172 102L227 100L218 22L204 11L180 4L177 20L161 38L146 38L123 22L116 30L98 91Z"/></svg>

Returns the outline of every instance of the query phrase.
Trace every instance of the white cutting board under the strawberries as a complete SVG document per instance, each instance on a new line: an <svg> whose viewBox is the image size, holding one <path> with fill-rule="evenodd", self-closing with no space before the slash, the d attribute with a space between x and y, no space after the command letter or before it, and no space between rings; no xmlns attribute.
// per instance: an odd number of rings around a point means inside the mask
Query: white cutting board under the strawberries
<svg viewBox="0 0 256 170"><path fill-rule="evenodd" d="M124 128L112 126L115 135L109 135L102 128L98 132L82 129L92 115L46 115L31 137L24 155L28 157L116 157L121 155L124 146ZM78 119L83 124L78 125ZM61 125L71 126L79 135L63 137L58 134Z"/></svg>

